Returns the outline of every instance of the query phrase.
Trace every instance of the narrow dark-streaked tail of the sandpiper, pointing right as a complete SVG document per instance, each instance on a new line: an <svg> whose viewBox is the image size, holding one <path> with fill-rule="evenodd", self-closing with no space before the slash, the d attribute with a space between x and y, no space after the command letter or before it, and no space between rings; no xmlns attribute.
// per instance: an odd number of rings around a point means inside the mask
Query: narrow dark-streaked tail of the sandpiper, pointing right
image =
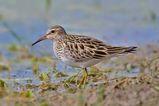
<svg viewBox="0 0 159 106"><path fill-rule="evenodd" d="M136 52L137 47L108 47L108 54L125 54Z"/></svg>

